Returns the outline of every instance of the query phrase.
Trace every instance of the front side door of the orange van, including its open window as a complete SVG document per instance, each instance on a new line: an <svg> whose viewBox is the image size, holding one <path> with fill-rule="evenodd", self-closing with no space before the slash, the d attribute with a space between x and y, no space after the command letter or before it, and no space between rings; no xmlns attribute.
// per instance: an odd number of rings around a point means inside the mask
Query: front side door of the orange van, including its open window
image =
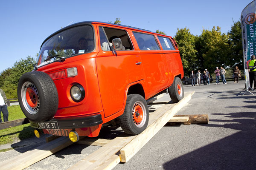
<svg viewBox="0 0 256 170"><path fill-rule="evenodd" d="M143 79L140 55L134 50L126 30L99 26L99 53L96 67L105 117L122 110L125 90L130 83ZM122 51L112 53L112 39L122 40Z"/></svg>

